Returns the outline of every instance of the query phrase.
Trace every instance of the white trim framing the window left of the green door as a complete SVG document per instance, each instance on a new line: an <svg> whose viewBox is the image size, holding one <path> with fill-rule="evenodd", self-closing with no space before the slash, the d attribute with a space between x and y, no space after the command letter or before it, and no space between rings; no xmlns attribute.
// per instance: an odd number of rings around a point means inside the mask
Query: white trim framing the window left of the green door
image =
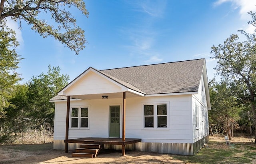
<svg viewBox="0 0 256 164"><path fill-rule="evenodd" d="M72 123L72 108L78 108L78 127L71 127ZM81 108L88 108L88 127L81 127ZM69 112L69 129L90 129L90 105L82 105L82 106L70 106L70 112Z"/></svg>

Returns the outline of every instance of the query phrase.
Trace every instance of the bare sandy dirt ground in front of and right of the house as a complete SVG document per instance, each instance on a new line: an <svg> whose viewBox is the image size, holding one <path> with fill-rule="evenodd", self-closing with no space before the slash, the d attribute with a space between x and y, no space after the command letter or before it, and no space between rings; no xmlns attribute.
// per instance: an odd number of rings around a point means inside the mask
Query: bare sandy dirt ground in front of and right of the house
<svg viewBox="0 0 256 164"><path fill-rule="evenodd" d="M210 141L224 142L223 136L210 136ZM236 137L231 142L252 142L253 138ZM210 144L210 143L209 143ZM214 145L211 145L214 146ZM219 145L216 145L219 146ZM154 152L126 151L122 156L120 151L103 152L96 158L77 158L64 150L53 150L53 144L35 144L31 146L22 145L1 145L0 163L1 164L158 164L173 163L186 164L182 160L175 160L170 154L158 154ZM225 146L218 147L225 148Z"/></svg>

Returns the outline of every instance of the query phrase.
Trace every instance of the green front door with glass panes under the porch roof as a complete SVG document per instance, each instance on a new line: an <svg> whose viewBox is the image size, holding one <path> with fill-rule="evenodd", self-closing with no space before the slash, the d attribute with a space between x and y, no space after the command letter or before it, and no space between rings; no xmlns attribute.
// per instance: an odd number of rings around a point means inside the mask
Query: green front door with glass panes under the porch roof
<svg viewBox="0 0 256 164"><path fill-rule="evenodd" d="M120 106L110 106L109 137L120 137Z"/></svg>

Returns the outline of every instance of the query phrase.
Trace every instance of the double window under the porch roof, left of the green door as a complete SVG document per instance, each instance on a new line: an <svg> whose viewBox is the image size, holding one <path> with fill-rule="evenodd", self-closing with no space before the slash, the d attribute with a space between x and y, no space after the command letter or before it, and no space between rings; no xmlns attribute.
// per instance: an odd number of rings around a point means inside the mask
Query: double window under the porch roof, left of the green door
<svg viewBox="0 0 256 164"><path fill-rule="evenodd" d="M89 107L71 108L71 128L89 128Z"/></svg>

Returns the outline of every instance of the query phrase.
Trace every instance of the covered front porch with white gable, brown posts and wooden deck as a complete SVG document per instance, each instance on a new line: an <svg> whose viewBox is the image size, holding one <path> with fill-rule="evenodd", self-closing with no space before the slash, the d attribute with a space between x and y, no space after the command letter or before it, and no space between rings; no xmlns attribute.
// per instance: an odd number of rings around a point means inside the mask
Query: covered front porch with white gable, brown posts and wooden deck
<svg viewBox="0 0 256 164"><path fill-rule="evenodd" d="M141 139L133 139L133 138L125 138L125 126L126 126L126 98L134 98L134 97L143 97L144 92L138 90L134 86L123 82L121 80L115 79L108 74L105 74L101 71L95 70L94 68L88 68L84 73L82 73L78 78L73 80L70 84L68 84L65 88L63 88L58 95L67 97L67 108L66 108L66 135L65 135L65 152L68 152L68 143L92 143L92 144L112 144L112 145L122 145L122 155L125 155L125 145L132 144L136 142L141 142ZM109 122L109 134L106 133L103 135L87 135L86 138L79 138L76 136L76 139L72 137L69 138L69 131L72 129L72 122L70 121L70 98L75 98L77 100L99 100L104 104L108 104L108 102L115 102L120 104L117 109L114 109L115 106L109 105L109 116L104 118L108 118ZM120 98L122 100L120 101ZM102 101L104 99L104 101ZM119 100L118 100L119 99ZM110 100L110 101L109 101ZM113 110L112 108L113 107ZM94 108L95 110L95 108ZM106 111L106 106L104 107L104 111ZM113 112L115 111L115 113ZM88 108L87 108L88 113ZM112 117L112 114L115 117ZM88 117L88 114L86 115ZM72 118L73 119L73 118ZM71 120L72 120L71 119ZM87 118L89 120L89 118ZM97 119L97 116L94 115L94 122ZM114 120L112 122L112 120ZM105 120L106 121L106 120ZM113 123L113 124L112 124ZM71 126L70 126L71 124ZM76 123L77 126L78 123ZM110 124L111 127L117 127L116 133L117 135L110 135ZM116 124L116 125L114 125ZM88 121L88 125L90 125L90 121ZM91 124L92 126L93 124ZM89 128L88 128L89 129ZM92 128L90 128L92 130ZM96 129L94 129L96 130ZM89 130L88 130L89 132ZM112 131L111 131L112 132ZM76 134L79 132L77 131ZM94 138L94 137L100 138ZM88 138L89 137L89 138ZM134 137L136 138L136 137Z"/></svg>

